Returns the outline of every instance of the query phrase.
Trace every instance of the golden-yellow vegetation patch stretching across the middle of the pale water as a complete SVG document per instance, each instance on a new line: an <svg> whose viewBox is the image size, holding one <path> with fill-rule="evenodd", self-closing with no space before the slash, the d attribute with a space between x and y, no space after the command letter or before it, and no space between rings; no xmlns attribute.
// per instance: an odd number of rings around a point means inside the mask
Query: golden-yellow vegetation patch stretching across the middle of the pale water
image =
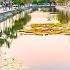
<svg viewBox="0 0 70 70"><path fill-rule="evenodd" d="M54 34L70 35L70 28L69 26L62 23L33 24L31 29L25 29L24 32L45 35L54 35Z"/></svg>

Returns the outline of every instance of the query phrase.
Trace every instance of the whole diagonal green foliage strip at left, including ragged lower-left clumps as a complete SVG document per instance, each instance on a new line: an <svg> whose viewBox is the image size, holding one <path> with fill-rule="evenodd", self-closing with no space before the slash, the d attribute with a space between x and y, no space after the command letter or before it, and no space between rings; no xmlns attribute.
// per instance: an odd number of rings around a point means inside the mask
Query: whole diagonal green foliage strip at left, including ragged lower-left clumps
<svg viewBox="0 0 70 70"><path fill-rule="evenodd" d="M17 31L20 29L23 29L23 26L26 25L26 23L31 19L31 17L26 13L25 16L19 20L14 21L14 25L12 28L8 27L3 31L3 34L5 36L0 38L0 47L2 47L3 44L7 44L8 48L10 47L10 42L8 39L12 40L17 38Z"/></svg>

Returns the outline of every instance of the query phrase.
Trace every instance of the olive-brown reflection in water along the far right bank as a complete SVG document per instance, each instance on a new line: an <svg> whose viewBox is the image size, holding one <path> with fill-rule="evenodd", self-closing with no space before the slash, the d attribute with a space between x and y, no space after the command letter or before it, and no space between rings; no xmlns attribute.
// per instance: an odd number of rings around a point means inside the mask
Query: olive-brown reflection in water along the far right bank
<svg viewBox="0 0 70 70"><path fill-rule="evenodd" d="M57 13L57 18L61 23L67 24L70 22L70 13L69 12L64 12L60 10L56 10L56 8L43 8L42 11L45 12L52 12L53 14Z"/></svg>

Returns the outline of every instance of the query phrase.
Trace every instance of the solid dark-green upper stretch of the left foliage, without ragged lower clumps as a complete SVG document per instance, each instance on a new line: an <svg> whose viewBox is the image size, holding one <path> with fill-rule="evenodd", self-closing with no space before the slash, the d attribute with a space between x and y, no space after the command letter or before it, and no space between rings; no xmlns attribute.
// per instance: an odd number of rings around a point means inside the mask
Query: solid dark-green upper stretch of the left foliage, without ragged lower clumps
<svg viewBox="0 0 70 70"><path fill-rule="evenodd" d="M17 30L23 29L23 26L26 25L26 23L31 19L31 17L28 14L25 14L25 16L19 20L15 20L14 26L12 26L12 31L16 32Z"/></svg>

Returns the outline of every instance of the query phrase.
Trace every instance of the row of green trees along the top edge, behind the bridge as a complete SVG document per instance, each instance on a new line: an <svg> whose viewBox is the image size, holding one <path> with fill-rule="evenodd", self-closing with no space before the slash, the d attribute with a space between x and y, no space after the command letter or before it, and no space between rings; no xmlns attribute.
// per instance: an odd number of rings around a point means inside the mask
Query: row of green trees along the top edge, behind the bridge
<svg viewBox="0 0 70 70"><path fill-rule="evenodd" d="M70 0L12 0L14 4L25 5L25 4L42 4L48 2L55 2L58 3L67 3Z"/></svg>

